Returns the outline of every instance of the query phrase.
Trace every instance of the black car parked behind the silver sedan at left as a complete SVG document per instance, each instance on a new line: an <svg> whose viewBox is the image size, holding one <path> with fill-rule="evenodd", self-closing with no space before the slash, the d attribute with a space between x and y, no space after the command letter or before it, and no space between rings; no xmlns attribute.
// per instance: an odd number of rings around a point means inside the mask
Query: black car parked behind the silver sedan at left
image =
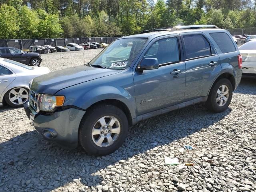
<svg viewBox="0 0 256 192"><path fill-rule="evenodd" d="M24 52L14 47L0 47L0 57L31 66L39 66L42 62L40 54Z"/></svg>

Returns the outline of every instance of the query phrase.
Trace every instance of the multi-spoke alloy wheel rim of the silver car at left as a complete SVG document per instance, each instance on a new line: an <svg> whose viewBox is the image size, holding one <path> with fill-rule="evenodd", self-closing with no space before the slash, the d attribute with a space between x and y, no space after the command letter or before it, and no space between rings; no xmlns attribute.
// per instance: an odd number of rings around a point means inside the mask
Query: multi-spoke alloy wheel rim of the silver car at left
<svg viewBox="0 0 256 192"><path fill-rule="evenodd" d="M25 88L13 88L9 92L9 100L14 105L22 105L28 100L28 91Z"/></svg>

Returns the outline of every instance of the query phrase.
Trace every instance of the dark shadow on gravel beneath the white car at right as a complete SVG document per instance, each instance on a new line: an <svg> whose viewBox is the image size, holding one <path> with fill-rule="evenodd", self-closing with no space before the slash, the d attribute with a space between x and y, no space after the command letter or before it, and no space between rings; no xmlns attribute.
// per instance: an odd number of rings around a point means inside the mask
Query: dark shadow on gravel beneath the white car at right
<svg viewBox="0 0 256 192"><path fill-rule="evenodd" d="M235 93L256 95L256 78L243 77Z"/></svg>

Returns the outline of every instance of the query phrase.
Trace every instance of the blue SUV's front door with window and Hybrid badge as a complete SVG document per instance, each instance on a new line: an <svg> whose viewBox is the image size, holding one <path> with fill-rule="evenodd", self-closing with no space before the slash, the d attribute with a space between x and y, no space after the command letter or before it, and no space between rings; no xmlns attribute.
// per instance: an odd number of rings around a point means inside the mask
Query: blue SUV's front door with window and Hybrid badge
<svg viewBox="0 0 256 192"><path fill-rule="evenodd" d="M179 44L177 36L161 38L152 42L144 54L143 58L157 58L159 68L134 72L137 115L184 100L186 67Z"/></svg>

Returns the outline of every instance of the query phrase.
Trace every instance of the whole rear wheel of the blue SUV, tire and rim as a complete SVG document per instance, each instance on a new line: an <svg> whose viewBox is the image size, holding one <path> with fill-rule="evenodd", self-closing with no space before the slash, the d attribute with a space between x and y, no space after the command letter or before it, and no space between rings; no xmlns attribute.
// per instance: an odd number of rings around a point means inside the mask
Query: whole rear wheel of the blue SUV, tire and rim
<svg viewBox="0 0 256 192"><path fill-rule="evenodd" d="M223 112L231 102L233 87L231 82L226 79L220 79L212 87L206 107L213 112Z"/></svg>

